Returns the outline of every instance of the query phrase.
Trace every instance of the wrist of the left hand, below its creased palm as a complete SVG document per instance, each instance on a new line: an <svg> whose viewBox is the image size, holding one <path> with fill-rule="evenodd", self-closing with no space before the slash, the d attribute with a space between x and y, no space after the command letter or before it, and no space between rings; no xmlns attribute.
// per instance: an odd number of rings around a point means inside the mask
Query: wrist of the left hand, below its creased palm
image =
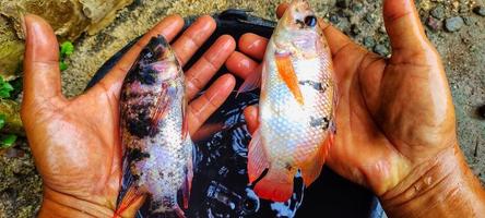
<svg viewBox="0 0 485 218"><path fill-rule="evenodd" d="M107 206L66 195L44 186L39 217L113 217Z"/></svg>

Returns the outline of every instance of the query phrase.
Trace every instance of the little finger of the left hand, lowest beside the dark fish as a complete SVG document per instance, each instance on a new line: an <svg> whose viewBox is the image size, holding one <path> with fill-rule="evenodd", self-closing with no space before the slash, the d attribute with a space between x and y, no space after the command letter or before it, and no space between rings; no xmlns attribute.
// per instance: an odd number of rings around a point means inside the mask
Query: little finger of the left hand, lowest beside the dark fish
<svg viewBox="0 0 485 218"><path fill-rule="evenodd" d="M190 102L187 111L189 132L192 135L208 118L227 99L236 85L230 74L217 78L199 98Z"/></svg>

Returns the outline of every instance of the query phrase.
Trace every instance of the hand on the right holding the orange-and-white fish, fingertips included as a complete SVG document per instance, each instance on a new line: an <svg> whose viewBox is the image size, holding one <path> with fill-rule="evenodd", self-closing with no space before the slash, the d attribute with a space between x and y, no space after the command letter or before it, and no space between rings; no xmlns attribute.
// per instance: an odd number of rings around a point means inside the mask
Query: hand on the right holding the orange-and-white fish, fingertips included
<svg viewBox="0 0 485 218"><path fill-rule="evenodd" d="M339 95L336 136L328 164L371 189L392 215L426 215L403 208L441 207L440 201L453 196L459 196L453 206L468 207L470 201L458 194L464 191L484 209L484 192L458 147L454 109L440 57L426 38L412 1L386 0L383 4L392 47L389 59L320 21L332 52ZM279 17L286 7L280 5ZM242 36L238 46L246 55L233 53L226 62L229 71L241 77L253 72L258 63L251 58L261 60L267 43L253 34ZM245 116L253 131L257 109L248 108ZM476 209L471 211L477 215Z"/></svg>

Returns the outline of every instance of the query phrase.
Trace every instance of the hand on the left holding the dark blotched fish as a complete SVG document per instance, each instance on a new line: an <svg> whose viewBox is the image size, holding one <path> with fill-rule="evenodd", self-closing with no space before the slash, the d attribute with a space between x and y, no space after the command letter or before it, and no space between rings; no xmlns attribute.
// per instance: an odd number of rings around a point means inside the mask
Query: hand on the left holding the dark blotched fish
<svg viewBox="0 0 485 218"><path fill-rule="evenodd" d="M182 29L178 15L165 17L143 36L95 86L73 99L61 94L58 43L50 26L25 16L25 125L36 167L44 182L40 216L113 217L121 180L119 95L125 75L152 36L173 40ZM210 16L200 17L171 44L181 64L188 62L215 31ZM194 98L234 51L236 43L222 36L186 71L189 132L193 134L229 96L235 78L217 78Z"/></svg>

